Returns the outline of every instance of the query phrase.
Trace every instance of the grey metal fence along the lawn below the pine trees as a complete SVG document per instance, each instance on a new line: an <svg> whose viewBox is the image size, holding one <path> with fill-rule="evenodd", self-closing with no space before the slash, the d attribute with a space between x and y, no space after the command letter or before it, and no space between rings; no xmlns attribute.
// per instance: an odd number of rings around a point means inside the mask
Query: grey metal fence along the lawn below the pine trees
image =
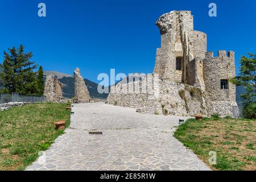
<svg viewBox="0 0 256 182"><path fill-rule="evenodd" d="M44 96L22 96L19 93L3 93L0 94L0 104L9 102L44 102Z"/></svg>

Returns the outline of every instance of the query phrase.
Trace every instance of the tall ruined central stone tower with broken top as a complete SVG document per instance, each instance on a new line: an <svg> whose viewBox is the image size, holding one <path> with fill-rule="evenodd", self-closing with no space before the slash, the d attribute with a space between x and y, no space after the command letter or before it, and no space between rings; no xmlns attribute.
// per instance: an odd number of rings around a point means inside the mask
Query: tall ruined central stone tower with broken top
<svg viewBox="0 0 256 182"><path fill-rule="evenodd" d="M156 22L160 29L161 48L156 51L154 73L159 76L204 89L203 59L207 35L193 30L191 11L171 11Z"/></svg>

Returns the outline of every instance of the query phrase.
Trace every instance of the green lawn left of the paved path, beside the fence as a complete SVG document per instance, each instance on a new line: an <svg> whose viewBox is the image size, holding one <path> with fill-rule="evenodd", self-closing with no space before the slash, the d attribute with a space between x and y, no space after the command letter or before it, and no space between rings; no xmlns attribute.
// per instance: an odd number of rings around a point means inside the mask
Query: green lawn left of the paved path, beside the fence
<svg viewBox="0 0 256 182"><path fill-rule="evenodd" d="M23 170L47 150L64 130L55 121L70 123L66 104L29 104L0 111L0 170Z"/></svg>

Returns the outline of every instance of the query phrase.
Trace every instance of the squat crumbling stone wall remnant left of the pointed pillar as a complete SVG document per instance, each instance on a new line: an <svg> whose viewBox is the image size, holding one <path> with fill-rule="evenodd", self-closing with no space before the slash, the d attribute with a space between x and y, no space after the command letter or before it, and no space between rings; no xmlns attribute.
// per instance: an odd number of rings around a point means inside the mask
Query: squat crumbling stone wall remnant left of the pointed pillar
<svg viewBox="0 0 256 182"><path fill-rule="evenodd" d="M60 102L63 99L61 83L53 75L48 75L46 77L44 96L48 102Z"/></svg>

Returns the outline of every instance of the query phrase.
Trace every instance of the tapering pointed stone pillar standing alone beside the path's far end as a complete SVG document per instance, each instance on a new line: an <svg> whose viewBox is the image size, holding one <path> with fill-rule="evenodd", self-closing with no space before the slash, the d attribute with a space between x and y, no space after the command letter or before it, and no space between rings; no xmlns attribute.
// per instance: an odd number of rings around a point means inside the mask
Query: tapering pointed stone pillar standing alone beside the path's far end
<svg viewBox="0 0 256 182"><path fill-rule="evenodd" d="M85 85L84 78L82 78L80 69L76 68L74 72L74 96L79 103L90 102L90 94L87 86Z"/></svg>

